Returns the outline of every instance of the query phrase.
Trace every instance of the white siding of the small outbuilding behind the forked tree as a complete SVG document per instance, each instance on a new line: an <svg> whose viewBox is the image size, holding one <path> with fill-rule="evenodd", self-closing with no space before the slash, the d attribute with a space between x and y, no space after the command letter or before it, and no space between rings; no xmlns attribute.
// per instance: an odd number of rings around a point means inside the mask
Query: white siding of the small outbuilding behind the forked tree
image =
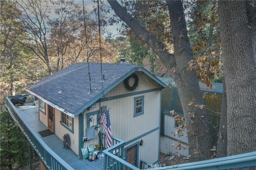
<svg viewBox="0 0 256 170"><path fill-rule="evenodd" d="M173 143L177 143L177 141L172 140L168 137L177 139L179 141L188 143L188 139L187 139L187 131L183 131L183 136L179 137L178 134L175 134L175 131L177 131L176 128L174 128L175 125L175 121L174 121L174 117L170 116L170 115L164 115L164 135L165 137L161 137L161 152L164 154L176 154L178 156L188 156L188 146L187 145L183 145L181 143L181 148L177 147L177 145L174 144L174 146L172 146Z"/></svg>

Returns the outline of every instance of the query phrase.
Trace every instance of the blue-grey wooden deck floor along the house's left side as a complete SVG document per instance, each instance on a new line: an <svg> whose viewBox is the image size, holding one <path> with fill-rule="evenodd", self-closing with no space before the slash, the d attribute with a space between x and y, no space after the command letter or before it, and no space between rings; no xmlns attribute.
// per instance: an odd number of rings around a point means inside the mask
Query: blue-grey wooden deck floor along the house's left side
<svg viewBox="0 0 256 170"><path fill-rule="evenodd" d="M38 113L36 113L35 106L21 106L18 108L19 115L22 120L28 123L37 133L46 130L47 127L39 121ZM38 133L39 134L39 133ZM41 137L41 135L39 134ZM81 160L70 149L64 149L62 140L57 135L53 134L48 137L42 138L49 148L51 148L57 155L59 155L65 162L67 162L74 169L103 169L103 159L89 162L89 160Z"/></svg>

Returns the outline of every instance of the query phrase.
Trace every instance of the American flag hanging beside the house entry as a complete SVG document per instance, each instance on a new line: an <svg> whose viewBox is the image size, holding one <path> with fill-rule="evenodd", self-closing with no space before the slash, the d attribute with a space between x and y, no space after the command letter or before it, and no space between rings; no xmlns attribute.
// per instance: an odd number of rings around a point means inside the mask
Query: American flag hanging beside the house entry
<svg viewBox="0 0 256 170"><path fill-rule="evenodd" d="M105 133L106 133L107 147L109 148L112 146L109 110L103 113L100 118L103 125L103 129L105 130Z"/></svg>

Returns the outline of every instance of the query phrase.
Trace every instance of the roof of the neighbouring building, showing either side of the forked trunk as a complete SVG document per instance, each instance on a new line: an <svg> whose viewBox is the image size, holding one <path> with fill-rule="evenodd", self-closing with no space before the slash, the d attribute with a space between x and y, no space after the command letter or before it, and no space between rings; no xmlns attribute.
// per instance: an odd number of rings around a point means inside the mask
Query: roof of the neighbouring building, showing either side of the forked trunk
<svg viewBox="0 0 256 170"><path fill-rule="evenodd" d="M164 82L167 86L169 83L172 83L172 87L176 87L176 84L174 82L174 80L172 78L160 78L157 77L159 80L161 80L162 82ZM209 91L209 92L218 92L218 93L222 93L223 90L223 83L212 83L212 88L206 87L204 83L199 81L199 86L201 88L201 90L203 91Z"/></svg>

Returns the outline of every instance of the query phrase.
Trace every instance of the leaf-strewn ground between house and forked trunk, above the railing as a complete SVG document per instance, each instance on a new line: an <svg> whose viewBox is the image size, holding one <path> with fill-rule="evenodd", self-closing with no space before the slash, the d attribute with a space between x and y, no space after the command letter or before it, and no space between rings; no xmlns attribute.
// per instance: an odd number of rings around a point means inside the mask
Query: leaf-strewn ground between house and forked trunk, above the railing
<svg viewBox="0 0 256 170"><path fill-rule="evenodd" d="M188 159L184 159L183 156L178 157L177 155L165 155L160 154L160 164L165 164L166 166L178 165L188 163Z"/></svg>

